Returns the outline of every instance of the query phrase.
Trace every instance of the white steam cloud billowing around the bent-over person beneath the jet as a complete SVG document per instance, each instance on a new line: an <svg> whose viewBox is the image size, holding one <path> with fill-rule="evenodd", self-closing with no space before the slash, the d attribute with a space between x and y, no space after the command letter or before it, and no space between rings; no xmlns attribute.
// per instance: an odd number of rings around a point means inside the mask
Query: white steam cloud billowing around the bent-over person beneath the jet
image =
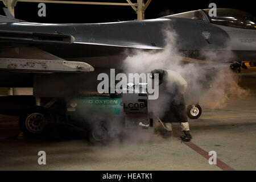
<svg viewBox="0 0 256 182"><path fill-rule="evenodd" d="M186 104L197 104L203 101L203 105L213 108L222 107L231 96L242 97L249 94L247 90L238 85L238 77L229 72L229 64L219 64L214 69L214 64L184 64L184 55L180 53L176 44L178 36L171 27L164 30L166 35L166 47L162 51L135 51L123 61L124 70L127 73L150 73L153 69L170 69L180 73L188 82L185 94ZM226 50L230 50L229 42ZM225 63L234 59L232 51L201 50L200 55L212 63ZM156 113L166 109L170 102L168 95L165 100L158 102L158 106L151 105ZM160 98L161 99L161 98ZM160 108L159 108L160 106ZM154 108L155 107L155 108Z"/></svg>

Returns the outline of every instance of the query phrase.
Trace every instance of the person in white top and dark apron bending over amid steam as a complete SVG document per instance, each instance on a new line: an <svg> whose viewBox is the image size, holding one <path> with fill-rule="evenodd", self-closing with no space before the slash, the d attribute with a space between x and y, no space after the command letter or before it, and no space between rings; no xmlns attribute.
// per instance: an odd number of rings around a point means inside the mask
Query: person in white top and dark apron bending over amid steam
<svg viewBox="0 0 256 182"><path fill-rule="evenodd" d="M159 113L159 120L163 123L165 133L164 138L168 138L172 133L173 122L179 122L184 136L182 140L189 142L192 139L189 131L187 113L185 108L184 96L187 89L187 82L179 73L164 70L154 69L151 71L151 78L154 79L154 74L159 75L159 103L163 106L162 112Z"/></svg>

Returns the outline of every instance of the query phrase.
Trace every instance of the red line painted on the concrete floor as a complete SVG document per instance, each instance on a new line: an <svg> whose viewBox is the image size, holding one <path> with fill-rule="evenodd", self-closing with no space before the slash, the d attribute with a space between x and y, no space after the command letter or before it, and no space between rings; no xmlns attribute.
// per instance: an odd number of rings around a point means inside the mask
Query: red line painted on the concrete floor
<svg viewBox="0 0 256 182"><path fill-rule="evenodd" d="M203 156L205 159L209 160L210 156L208 155L208 152L197 146L196 144L192 142L183 142L188 147L192 148L194 151L199 153L201 156ZM233 169L232 167L228 166L228 164L222 162L221 160L217 159L217 164L219 168L221 168L224 171L236 171L236 169Z"/></svg>

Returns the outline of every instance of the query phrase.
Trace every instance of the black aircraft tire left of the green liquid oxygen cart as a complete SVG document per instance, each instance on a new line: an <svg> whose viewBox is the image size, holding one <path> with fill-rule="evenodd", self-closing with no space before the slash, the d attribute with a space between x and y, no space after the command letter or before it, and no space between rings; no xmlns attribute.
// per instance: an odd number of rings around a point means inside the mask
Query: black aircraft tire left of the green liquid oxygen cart
<svg viewBox="0 0 256 182"><path fill-rule="evenodd" d="M51 113L44 107L36 106L19 118L19 127L26 138L35 138L46 132L46 126L52 121Z"/></svg>

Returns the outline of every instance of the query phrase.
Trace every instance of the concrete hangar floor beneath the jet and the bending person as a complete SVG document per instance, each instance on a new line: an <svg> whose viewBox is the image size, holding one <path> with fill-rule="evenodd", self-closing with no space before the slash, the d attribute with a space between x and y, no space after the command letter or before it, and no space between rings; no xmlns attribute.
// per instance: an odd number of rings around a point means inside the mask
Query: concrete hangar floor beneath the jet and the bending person
<svg viewBox="0 0 256 182"><path fill-rule="evenodd" d="M164 139L154 131L122 142L92 146L82 138L17 139L18 119L0 116L0 170L256 170L256 74L243 75L245 98L230 98L221 109L201 103L203 114L190 120L192 142L181 143L180 128ZM46 151L46 165L38 152ZM217 164L208 162L216 151Z"/></svg>

